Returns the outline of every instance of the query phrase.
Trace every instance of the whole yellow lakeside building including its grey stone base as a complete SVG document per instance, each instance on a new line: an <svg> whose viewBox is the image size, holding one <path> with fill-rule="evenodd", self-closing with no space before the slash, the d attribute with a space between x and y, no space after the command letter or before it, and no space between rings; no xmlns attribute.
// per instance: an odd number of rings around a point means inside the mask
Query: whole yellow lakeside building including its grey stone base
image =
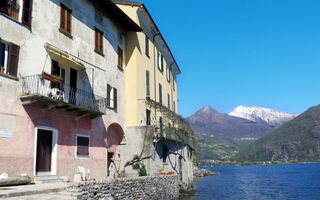
<svg viewBox="0 0 320 200"><path fill-rule="evenodd" d="M180 182L193 179L190 138L178 137L176 77L181 73L175 58L145 5L136 1L114 3L143 30L127 33L125 90L125 163L141 156L149 175L174 171ZM171 127L171 128L170 128ZM175 127L175 128L174 128ZM171 131L173 130L173 131ZM135 172L125 169L126 176Z"/></svg>

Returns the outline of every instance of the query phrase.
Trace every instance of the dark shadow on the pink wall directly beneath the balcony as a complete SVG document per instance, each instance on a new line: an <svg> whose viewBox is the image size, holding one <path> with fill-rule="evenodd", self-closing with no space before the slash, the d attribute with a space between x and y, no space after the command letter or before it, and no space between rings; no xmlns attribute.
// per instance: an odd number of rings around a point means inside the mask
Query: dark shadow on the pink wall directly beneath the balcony
<svg viewBox="0 0 320 200"><path fill-rule="evenodd" d="M102 117L78 118L76 112L52 108L44 110L40 102L24 106L34 126L58 129L58 145L75 146L76 135L90 136L90 147L106 148L107 132Z"/></svg>

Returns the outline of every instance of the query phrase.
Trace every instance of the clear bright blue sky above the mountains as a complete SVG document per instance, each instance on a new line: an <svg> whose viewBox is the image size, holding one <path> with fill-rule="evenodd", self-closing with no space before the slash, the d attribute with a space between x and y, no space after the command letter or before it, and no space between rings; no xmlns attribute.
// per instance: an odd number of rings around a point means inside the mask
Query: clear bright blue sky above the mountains
<svg viewBox="0 0 320 200"><path fill-rule="evenodd" d="M298 114L319 104L319 0L143 2L182 70L184 117L205 105Z"/></svg>

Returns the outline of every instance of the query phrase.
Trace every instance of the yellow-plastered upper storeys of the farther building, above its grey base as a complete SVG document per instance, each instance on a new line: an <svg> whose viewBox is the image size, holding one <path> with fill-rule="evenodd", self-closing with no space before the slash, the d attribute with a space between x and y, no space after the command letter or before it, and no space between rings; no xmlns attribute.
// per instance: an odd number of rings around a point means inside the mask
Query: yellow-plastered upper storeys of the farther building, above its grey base
<svg viewBox="0 0 320 200"><path fill-rule="evenodd" d="M128 33L126 125L171 125L161 113L149 110L146 100L154 100L178 113L176 76L180 69L145 6L140 2L114 2L143 29L141 33Z"/></svg>

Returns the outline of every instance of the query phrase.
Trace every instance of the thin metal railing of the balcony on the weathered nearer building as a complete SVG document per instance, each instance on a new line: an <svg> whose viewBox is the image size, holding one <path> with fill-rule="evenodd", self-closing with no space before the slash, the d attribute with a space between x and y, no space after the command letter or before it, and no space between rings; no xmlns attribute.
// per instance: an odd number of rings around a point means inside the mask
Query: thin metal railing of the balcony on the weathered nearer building
<svg viewBox="0 0 320 200"><path fill-rule="evenodd" d="M40 74L26 76L23 80L23 97L45 97L52 102L63 102L67 105L84 108L90 112L104 114L106 99L83 89L74 88L63 83L54 83L44 79Z"/></svg>

